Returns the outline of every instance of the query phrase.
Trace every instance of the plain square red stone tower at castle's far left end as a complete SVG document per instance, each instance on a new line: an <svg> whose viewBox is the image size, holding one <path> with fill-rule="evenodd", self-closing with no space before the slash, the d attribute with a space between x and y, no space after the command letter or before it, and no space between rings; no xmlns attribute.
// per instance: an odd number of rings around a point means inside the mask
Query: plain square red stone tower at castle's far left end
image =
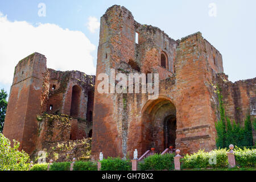
<svg viewBox="0 0 256 182"><path fill-rule="evenodd" d="M35 149L38 129L36 115L40 113L46 71L46 57L39 53L19 61L15 67L3 134L10 140L21 142L20 149L28 154Z"/></svg>

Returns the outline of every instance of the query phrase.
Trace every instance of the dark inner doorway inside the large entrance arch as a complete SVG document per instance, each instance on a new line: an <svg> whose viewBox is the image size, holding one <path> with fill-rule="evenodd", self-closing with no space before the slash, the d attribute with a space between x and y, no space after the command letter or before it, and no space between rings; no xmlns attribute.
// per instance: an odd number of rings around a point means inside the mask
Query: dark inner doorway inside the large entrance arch
<svg viewBox="0 0 256 182"><path fill-rule="evenodd" d="M175 148L176 139L176 117L175 115L169 115L164 119L164 148L173 146Z"/></svg>

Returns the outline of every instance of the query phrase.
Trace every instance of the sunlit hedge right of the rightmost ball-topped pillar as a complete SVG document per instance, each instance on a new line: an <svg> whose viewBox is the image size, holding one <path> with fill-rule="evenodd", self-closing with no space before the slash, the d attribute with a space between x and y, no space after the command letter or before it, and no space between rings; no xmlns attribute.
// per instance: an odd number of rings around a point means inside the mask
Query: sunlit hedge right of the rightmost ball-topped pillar
<svg viewBox="0 0 256 182"><path fill-rule="evenodd" d="M235 148L234 155L236 158L236 164L240 167L256 167L256 149L248 148Z"/></svg>

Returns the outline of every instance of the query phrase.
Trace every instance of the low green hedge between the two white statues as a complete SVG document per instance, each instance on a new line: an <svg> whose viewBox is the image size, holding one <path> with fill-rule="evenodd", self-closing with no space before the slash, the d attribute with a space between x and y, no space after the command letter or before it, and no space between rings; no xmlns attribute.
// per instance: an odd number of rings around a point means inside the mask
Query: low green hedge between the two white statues
<svg viewBox="0 0 256 182"><path fill-rule="evenodd" d="M131 162L108 157L108 159L101 160L101 171L131 171Z"/></svg>

